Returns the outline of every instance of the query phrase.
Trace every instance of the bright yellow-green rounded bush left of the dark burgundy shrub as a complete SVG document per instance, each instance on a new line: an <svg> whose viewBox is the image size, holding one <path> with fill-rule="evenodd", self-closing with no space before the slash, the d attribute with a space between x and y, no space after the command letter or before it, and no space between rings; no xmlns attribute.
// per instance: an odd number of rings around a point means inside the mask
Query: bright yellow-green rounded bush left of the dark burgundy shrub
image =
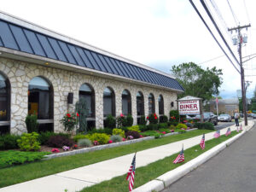
<svg viewBox="0 0 256 192"><path fill-rule="evenodd" d="M17 143L22 151L38 151L40 143L38 142L38 133L23 133Z"/></svg>

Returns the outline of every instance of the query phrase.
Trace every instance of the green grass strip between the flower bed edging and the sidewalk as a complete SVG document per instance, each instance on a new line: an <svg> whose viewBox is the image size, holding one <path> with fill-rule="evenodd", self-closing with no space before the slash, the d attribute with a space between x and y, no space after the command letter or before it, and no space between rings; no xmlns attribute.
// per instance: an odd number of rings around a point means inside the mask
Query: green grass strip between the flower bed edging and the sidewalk
<svg viewBox="0 0 256 192"><path fill-rule="evenodd" d="M0 188L15 183L22 183L38 177L44 177L57 172L65 172L80 166L87 166L109 160L125 154L131 154L135 150L141 151L147 148L154 148L160 145L174 143L190 137L196 137L202 133L212 132L209 130L195 130L184 134L173 135L170 137L161 137L159 139L143 141L141 143L133 143L116 148L107 148L104 150L93 151L85 154L75 154L72 156L59 157L53 160L43 160L28 163L20 166L11 166L0 169Z"/></svg>

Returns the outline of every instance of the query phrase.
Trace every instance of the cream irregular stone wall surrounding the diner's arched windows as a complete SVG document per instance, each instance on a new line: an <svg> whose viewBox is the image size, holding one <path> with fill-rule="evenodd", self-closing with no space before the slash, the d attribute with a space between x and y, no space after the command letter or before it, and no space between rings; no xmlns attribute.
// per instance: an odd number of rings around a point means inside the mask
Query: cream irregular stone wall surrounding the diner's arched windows
<svg viewBox="0 0 256 192"><path fill-rule="evenodd" d="M26 132L25 119L27 115L27 90L30 80L41 76L48 80L54 90L54 131L63 131L60 123L63 115L67 113L67 94L73 92L73 103L79 100L79 88L82 84L90 84L95 90L96 101L96 127L103 127L103 90L109 86L114 90L116 102L116 116L122 111L121 94L123 90L131 92L131 113L134 124L137 123L137 92L142 91L144 96L145 115L148 115L148 95L154 94L155 113L159 113L158 96L164 98L165 114L169 116L171 102L174 102L176 109L177 94L172 91L151 88L132 83L125 83L112 79L103 79L93 75L73 73L53 67L44 67L37 64L26 63L0 58L0 73L7 76L11 86L11 133L20 134ZM74 108L74 105L70 106Z"/></svg>

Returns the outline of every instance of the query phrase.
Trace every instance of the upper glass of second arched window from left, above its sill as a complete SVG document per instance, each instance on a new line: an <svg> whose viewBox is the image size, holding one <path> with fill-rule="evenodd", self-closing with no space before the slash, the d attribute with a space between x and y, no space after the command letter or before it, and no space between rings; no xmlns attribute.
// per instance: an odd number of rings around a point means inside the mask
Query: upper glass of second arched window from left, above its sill
<svg viewBox="0 0 256 192"><path fill-rule="evenodd" d="M50 118L50 89L46 80L33 78L28 85L28 113L38 114L38 119Z"/></svg>

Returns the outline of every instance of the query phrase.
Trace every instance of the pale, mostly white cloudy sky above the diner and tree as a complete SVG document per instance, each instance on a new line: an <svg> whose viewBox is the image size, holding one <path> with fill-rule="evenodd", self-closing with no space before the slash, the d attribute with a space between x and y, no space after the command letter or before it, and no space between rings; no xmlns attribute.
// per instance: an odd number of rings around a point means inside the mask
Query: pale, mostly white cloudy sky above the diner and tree
<svg viewBox="0 0 256 192"><path fill-rule="evenodd" d="M217 34L200 1L194 2L212 32ZM241 31L248 37L248 43L242 47L242 56L256 53L253 44L256 42L256 12L253 10L256 2L205 2L237 58L237 47L231 40L236 32L230 34L227 27L251 23L252 27ZM224 83L219 88L219 96L234 98L237 97L236 90L241 90L240 74L224 56L189 0L9 0L2 1L0 9L166 73L171 73L173 65L190 61L203 68L221 68ZM212 60L216 57L218 59ZM247 97L253 96L256 85L256 76L252 76L256 70L255 62L256 58L244 63L246 80L251 82ZM235 65L240 68L237 63Z"/></svg>

